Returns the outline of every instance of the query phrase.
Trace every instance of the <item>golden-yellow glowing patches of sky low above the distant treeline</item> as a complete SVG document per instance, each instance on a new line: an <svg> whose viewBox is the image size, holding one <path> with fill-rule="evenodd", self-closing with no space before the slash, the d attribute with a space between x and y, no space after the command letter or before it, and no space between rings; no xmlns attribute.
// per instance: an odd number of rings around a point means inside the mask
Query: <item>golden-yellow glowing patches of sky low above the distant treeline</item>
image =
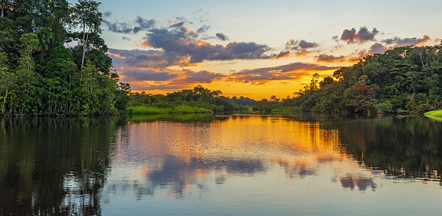
<svg viewBox="0 0 442 216"><path fill-rule="evenodd" d="M210 44L200 40L201 44ZM156 53L159 54L159 53ZM150 80L129 80L133 92L145 91L152 94L166 94L168 92L180 91L182 89L193 88L202 85L210 90L221 90L224 96L244 96L255 100L270 98L276 95L279 98L292 97L294 92L298 92L306 84L310 83L314 73L319 73L321 79L325 76L331 76L336 69L330 70L314 70L314 69L298 69L292 71L279 72L276 67L286 65L293 62L290 57L279 59L260 59L260 60L235 60L235 61L203 61L199 63L190 63L190 57L181 59L178 65L169 66L167 70L154 69L156 72L164 72L178 74L174 80L150 81ZM348 66L352 62L325 62L324 66ZM275 67L274 70L268 70L267 74L246 74L236 70L237 68L249 68L249 70L259 68ZM210 71L212 73L223 74L224 77L218 76L216 79L207 79L206 81L187 81L184 68L191 71ZM143 69L143 68L138 68ZM124 75L124 72L123 72ZM262 77L259 77L262 75ZM249 81L244 81L244 80ZM126 80L127 81L127 80Z"/></svg>

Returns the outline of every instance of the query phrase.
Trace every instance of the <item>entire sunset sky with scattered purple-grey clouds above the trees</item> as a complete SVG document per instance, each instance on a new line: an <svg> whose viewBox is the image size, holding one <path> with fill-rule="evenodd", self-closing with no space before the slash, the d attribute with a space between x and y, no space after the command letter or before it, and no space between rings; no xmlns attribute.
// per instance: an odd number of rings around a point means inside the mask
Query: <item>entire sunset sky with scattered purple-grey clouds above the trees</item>
<svg viewBox="0 0 442 216"><path fill-rule="evenodd" d="M70 0L71 3L76 1ZM196 85L292 97L318 73L442 38L440 0L103 0L102 37L133 91Z"/></svg>

